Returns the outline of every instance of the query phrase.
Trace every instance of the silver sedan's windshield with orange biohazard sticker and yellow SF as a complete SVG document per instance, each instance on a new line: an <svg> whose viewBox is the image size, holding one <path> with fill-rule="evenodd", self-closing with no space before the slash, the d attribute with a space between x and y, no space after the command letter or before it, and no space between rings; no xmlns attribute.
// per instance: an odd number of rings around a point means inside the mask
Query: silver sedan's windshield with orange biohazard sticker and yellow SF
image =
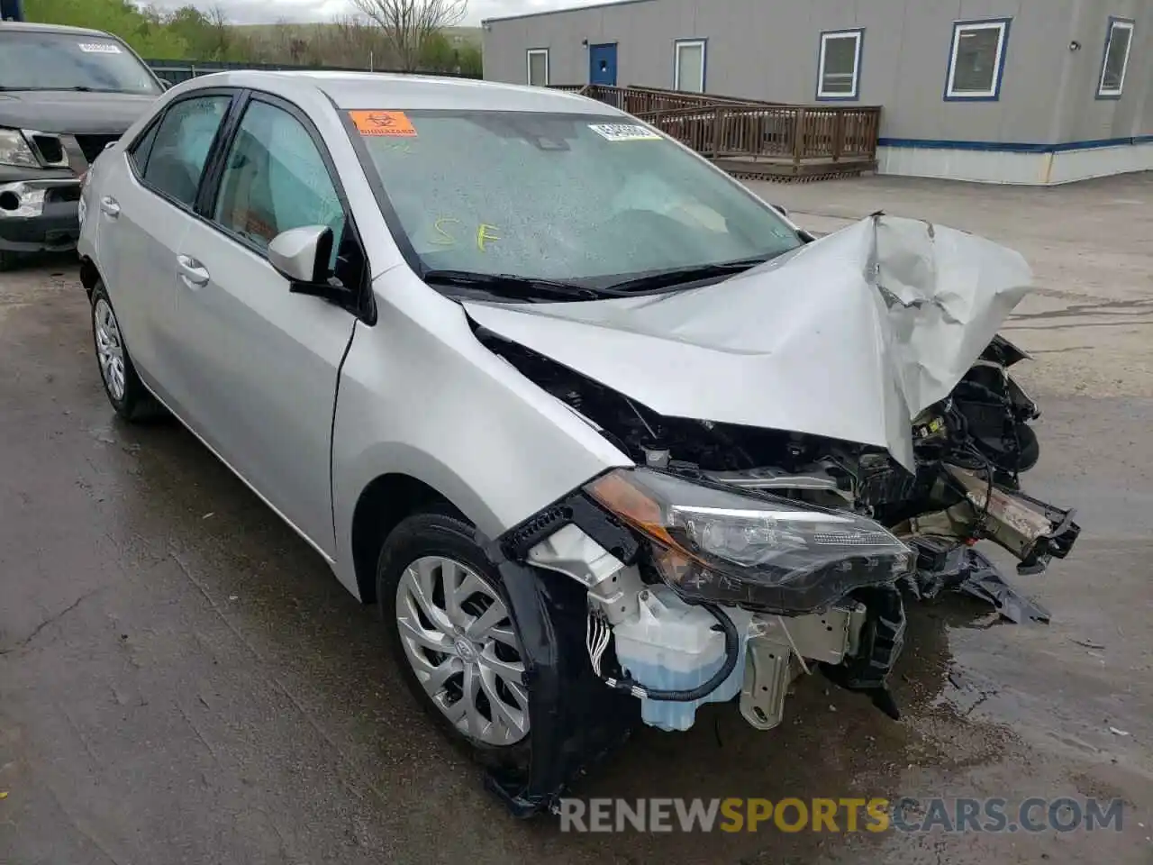
<svg viewBox="0 0 1153 865"><path fill-rule="evenodd" d="M752 266L801 243L739 185L620 116L351 114L428 270L604 287L660 271Z"/></svg>

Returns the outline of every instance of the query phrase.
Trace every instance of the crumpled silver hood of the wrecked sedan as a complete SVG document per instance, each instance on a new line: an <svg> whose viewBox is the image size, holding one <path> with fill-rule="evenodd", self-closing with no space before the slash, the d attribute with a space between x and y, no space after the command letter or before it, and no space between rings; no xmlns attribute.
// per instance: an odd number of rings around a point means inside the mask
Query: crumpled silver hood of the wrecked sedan
<svg viewBox="0 0 1153 865"><path fill-rule="evenodd" d="M468 315L675 418L886 447L956 386L1028 293L1017 253L876 215L715 285Z"/></svg>

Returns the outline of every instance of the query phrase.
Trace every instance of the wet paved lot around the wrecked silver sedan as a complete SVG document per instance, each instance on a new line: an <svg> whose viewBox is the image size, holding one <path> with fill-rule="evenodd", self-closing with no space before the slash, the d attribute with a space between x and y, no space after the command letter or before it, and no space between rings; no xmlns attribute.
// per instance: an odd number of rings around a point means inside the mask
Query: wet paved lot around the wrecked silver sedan
<svg viewBox="0 0 1153 865"><path fill-rule="evenodd" d="M1054 614L914 611L899 723L804 680L756 735L645 731L582 796L1123 798L1122 832L563 834L514 822L423 722L379 624L187 432L113 422L73 262L0 277L0 863L1153 862L1153 176L1055 190L762 190L1020 249L1041 286L1031 491L1080 509ZM1111 728L1111 730L1110 730ZM1121 732L1125 735L1120 735Z"/></svg>

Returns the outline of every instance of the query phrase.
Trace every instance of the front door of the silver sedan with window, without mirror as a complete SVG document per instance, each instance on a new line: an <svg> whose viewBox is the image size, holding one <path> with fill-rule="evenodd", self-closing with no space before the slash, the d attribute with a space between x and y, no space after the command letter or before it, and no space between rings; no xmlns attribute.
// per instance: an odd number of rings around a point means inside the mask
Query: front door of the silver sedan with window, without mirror
<svg viewBox="0 0 1153 865"><path fill-rule="evenodd" d="M363 288L363 247L327 150L295 106L249 95L221 152L176 255L179 399L197 432L331 557L332 414L356 315L291 293L266 250L280 232L329 226L332 274Z"/></svg>

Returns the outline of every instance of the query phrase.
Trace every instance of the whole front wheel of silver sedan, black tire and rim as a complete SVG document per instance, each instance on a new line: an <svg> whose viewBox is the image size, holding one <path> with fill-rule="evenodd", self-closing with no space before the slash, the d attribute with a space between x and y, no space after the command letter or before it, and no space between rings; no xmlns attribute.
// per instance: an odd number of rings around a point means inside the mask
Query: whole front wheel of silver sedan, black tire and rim
<svg viewBox="0 0 1153 865"><path fill-rule="evenodd" d="M377 599L390 647L424 710L490 768L529 765L523 654L500 576L457 517L423 513L380 550Z"/></svg>

